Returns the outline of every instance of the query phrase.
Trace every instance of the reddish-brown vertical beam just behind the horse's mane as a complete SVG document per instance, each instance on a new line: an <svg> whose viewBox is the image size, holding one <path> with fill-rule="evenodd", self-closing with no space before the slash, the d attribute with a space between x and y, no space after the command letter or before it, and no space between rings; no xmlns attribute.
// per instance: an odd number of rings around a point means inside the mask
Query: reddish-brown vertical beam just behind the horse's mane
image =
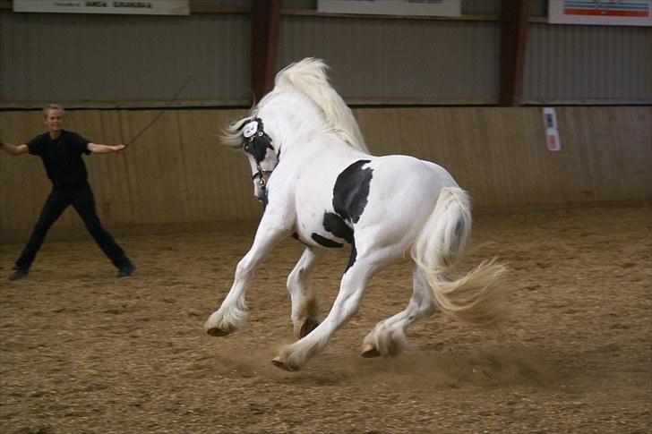
<svg viewBox="0 0 652 434"><path fill-rule="evenodd" d="M252 2L252 90L256 101L274 87L279 22L280 0Z"/></svg>

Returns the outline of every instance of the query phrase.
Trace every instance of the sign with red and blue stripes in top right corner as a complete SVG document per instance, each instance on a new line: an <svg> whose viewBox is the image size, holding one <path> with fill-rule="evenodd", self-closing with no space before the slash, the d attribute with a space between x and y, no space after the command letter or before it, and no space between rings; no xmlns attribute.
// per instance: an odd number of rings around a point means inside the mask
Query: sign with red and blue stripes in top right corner
<svg viewBox="0 0 652 434"><path fill-rule="evenodd" d="M549 0L548 22L652 26L652 0Z"/></svg>

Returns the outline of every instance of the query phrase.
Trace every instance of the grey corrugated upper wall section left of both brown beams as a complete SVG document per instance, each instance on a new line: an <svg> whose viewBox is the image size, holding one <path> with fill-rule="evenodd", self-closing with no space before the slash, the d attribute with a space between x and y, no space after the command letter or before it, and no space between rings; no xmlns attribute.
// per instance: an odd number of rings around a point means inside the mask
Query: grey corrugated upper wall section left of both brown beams
<svg viewBox="0 0 652 434"><path fill-rule="evenodd" d="M37 106L128 105L172 98L243 104L249 97L243 13L131 16L0 12L0 98Z"/></svg>

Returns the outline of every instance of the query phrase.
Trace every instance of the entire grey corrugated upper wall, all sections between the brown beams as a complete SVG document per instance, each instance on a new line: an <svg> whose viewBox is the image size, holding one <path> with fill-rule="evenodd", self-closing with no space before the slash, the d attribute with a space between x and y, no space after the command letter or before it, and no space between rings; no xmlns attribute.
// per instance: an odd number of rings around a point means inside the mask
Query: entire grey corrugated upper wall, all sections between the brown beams
<svg viewBox="0 0 652 434"><path fill-rule="evenodd" d="M2 107L248 106L249 2L193 0L183 17L0 10ZM495 104L500 2L463 0L464 19L324 16L283 2L279 68L318 56L350 104ZM550 25L532 2L522 100L652 103L652 28Z"/></svg>

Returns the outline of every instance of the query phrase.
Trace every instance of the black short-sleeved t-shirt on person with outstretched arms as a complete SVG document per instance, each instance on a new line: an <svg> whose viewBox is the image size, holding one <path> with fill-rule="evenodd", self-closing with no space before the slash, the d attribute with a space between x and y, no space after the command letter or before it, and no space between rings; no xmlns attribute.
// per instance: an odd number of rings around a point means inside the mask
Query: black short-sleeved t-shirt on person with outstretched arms
<svg viewBox="0 0 652 434"><path fill-rule="evenodd" d="M56 140L52 140L46 132L30 140L27 146L30 154L41 157L47 177L55 188L65 188L88 178L82 154L90 154L87 148L89 143L90 140L76 132L62 130Z"/></svg>

